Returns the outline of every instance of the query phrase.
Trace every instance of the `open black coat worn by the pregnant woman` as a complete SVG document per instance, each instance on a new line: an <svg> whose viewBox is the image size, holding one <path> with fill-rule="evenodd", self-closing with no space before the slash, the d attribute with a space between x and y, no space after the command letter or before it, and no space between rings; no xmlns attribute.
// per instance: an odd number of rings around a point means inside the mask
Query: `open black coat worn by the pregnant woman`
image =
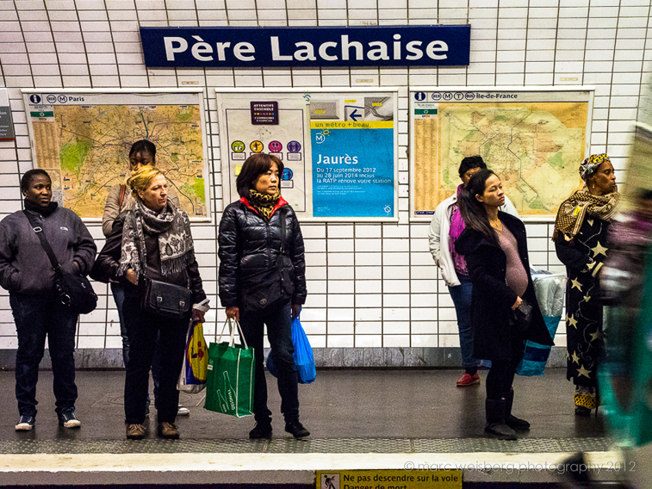
<svg viewBox="0 0 652 489"><path fill-rule="evenodd" d="M530 275L525 226L516 217L498 211L498 217L514 235L518 254L528 274L528 287L523 294L533 307L532 322L526 339L552 345L552 338L539 309ZM466 228L455 241L455 249L465 255L473 283L471 294L471 324L474 337L474 357L487 360L510 360L511 328L509 318L517 294L507 286L507 257L502 248L490 243L478 231Z"/></svg>

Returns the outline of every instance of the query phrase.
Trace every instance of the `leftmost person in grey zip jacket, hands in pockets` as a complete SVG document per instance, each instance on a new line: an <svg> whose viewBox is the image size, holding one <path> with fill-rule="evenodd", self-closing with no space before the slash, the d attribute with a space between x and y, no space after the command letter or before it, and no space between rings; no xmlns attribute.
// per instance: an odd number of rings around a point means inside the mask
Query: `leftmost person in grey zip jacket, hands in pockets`
<svg viewBox="0 0 652 489"><path fill-rule="evenodd" d="M67 272L87 275L95 260L95 243L82 219L52 202L45 170L27 171L21 180L25 209L43 228L58 262ZM0 222L0 285L9 291L16 322L16 399L20 413L16 431L31 430L36 417L38 364L45 337L52 361L59 424L81 425L75 416L75 329L78 315L62 305L54 289L54 269L23 211Z"/></svg>

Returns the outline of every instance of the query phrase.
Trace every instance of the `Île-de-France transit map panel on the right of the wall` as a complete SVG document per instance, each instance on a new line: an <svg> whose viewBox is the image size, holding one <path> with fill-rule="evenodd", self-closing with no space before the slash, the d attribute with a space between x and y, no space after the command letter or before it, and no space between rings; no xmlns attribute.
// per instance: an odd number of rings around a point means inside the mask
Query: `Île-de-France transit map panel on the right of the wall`
<svg viewBox="0 0 652 489"><path fill-rule="evenodd" d="M592 88L411 88L412 218L452 195L465 156L482 156L522 216L554 216L581 184Z"/></svg>

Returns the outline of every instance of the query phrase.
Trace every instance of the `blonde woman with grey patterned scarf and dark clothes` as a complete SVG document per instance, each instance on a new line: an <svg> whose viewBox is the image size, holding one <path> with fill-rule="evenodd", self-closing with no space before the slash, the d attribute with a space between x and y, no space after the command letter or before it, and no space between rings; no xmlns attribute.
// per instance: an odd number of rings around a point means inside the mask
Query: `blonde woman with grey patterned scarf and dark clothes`
<svg viewBox="0 0 652 489"><path fill-rule="evenodd" d="M192 309L182 317L169 317L141 308L148 281L161 281L191 291L195 305L206 298L202 289L188 216L167 198L167 180L159 169L145 166L127 180L135 204L117 217L106 244L97 257L94 276L125 287L124 320L130 339L130 359L124 387L127 438L145 436L148 374L160 335L161 376L157 418L163 438L179 438L174 424L188 322L203 321L203 312Z"/></svg>

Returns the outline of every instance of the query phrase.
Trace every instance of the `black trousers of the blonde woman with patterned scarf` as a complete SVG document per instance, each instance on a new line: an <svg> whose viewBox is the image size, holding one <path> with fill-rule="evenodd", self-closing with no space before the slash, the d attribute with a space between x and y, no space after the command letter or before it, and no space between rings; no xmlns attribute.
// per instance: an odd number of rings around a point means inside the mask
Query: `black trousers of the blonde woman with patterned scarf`
<svg viewBox="0 0 652 489"><path fill-rule="evenodd" d="M122 305L129 337L129 363L124 381L124 414L128 424L141 424L149 387L149 373L154 352L159 350L159 389L156 412L159 422L174 422L179 403L176 383L181 374L185 339L190 315L185 318L165 316L143 311L140 300L126 297ZM156 337L161 341L156 346Z"/></svg>

